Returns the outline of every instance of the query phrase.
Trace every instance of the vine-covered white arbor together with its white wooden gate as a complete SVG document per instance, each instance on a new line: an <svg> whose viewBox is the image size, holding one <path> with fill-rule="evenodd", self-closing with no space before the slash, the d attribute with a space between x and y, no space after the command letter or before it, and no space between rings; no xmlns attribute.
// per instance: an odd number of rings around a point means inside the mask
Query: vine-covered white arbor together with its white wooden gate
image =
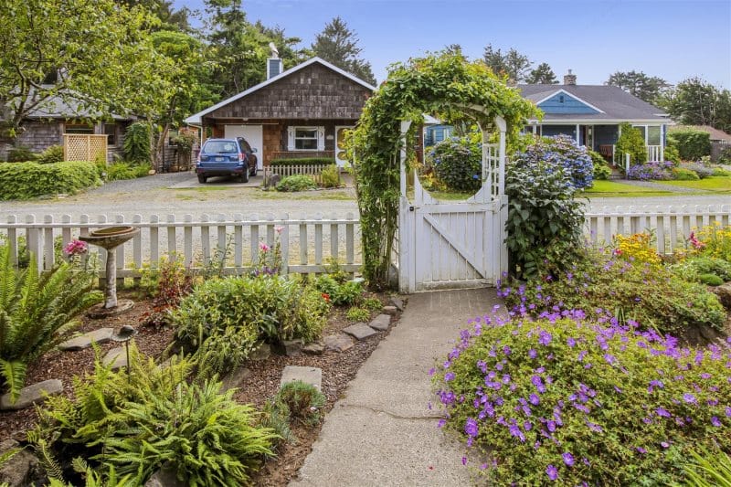
<svg viewBox="0 0 731 487"><path fill-rule="evenodd" d="M414 169L416 157L413 144L406 141L414 140L425 113L445 121L471 119L480 127L482 189L464 202L472 206L460 208L453 202L438 206L439 202L421 190L418 177L414 178L414 201L408 201L406 177ZM463 274L463 285L493 283L495 273L499 275L506 266L504 249L500 249L505 238L501 217L506 203L505 144L517 135L524 120L535 115L535 106L517 90L508 88L482 62L468 62L461 54L444 52L392 66L388 79L365 104L351 137L364 276L372 286L384 288L389 283L399 209L402 291L446 287L455 272ZM491 132L497 132L493 137L498 143L488 143ZM458 213L466 217L455 217ZM474 217L478 213L487 219ZM489 234L486 247L480 248L476 234ZM465 240L468 235L471 239ZM429 236L432 249L425 240ZM445 258L450 254L455 256L452 261ZM434 266L430 269L422 265L435 259L439 262L429 264Z"/></svg>

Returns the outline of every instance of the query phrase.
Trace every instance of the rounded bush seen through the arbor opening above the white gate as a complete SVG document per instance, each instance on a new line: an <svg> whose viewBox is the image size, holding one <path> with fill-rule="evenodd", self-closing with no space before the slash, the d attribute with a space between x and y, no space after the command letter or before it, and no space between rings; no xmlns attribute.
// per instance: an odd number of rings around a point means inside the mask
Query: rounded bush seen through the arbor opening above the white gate
<svg viewBox="0 0 731 487"><path fill-rule="evenodd" d="M435 144L426 159L426 164L448 189L477 191L482 186L482 151L466 137Z"/></svg>

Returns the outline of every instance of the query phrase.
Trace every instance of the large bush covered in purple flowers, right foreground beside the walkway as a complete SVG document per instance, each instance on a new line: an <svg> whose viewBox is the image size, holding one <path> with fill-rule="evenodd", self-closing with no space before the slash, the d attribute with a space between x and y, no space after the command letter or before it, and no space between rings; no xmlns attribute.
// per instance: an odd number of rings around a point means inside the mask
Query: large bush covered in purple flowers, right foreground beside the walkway
<svg viewBox="0 0 731 487"><path fill-rule="evenodd" d="M471 324L430 374L440 426L493 485L667 485L690 450L731 450L728 349L679 348L605 312Z"/></svg>

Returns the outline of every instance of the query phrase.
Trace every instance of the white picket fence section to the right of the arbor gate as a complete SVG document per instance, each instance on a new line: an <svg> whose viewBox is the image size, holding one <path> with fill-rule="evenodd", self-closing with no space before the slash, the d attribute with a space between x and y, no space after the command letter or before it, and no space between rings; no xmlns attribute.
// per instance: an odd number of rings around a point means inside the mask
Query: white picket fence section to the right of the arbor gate
<svg viewBox="0 0 731 487"><path fill-rule="evenodd" d="M691 231L718 223L731 225L731 205L722 206L604 206L585 215L584 233L591 242L609 245L614 235L652 231L657 251L684 249Z"/></svg>

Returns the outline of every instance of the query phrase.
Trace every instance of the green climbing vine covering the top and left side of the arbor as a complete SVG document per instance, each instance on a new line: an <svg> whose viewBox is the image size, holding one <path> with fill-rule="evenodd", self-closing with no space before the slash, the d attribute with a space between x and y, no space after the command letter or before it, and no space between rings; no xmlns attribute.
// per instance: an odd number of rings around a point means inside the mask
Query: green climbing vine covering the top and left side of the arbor
<svg viewBox="0 0 731 487"><path fill-rule="evenodd" d="M393 65L387 80L366 103L351 134L355 191L361 215L364 276L376 288L387 286L397 231L401 121L414 121L413 140L424 113L444 120L467 115L483 129L495 116L507 122L513 138L524 120L537 116L535 106L518 90L508 88L481 61L442 52ZM407 146L408 159L413 147Z"/></svg>

